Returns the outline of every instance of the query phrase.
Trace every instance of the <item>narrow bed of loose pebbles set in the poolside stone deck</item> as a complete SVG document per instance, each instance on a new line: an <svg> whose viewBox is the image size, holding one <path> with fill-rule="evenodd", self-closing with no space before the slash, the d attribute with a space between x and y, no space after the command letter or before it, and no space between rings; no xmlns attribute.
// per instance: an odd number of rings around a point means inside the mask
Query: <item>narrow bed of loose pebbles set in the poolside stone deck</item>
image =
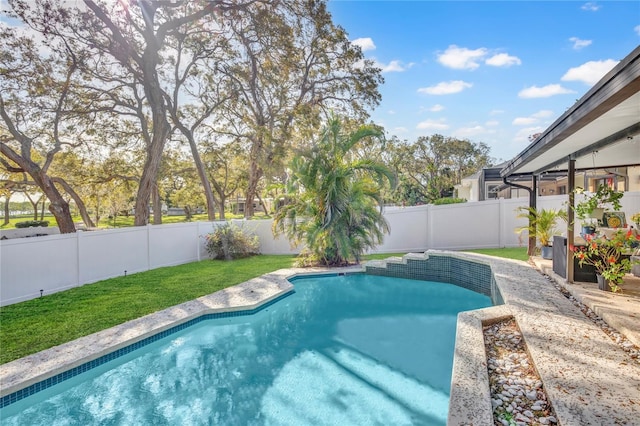
<svg viewBox="0 0 640 426"><path fill-rule="evenodd" d="M515 320L484 327L484 340L494 424L555 425L553 407Z"/></svg>

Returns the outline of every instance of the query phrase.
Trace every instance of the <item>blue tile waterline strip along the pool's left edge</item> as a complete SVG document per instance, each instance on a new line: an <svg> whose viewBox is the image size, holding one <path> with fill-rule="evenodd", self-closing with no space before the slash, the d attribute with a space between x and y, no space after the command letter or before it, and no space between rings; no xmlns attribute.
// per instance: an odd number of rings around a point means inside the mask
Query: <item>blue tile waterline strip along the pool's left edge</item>
<svg viewBox="0 0 640 426"><path fill-rule="evenodd" d="M174 334L178 331L184 330L185 328L188 328L194 324L197 324L201 321L204 320L209 320L209 319L216 319L216 318L229 318L229 317L240 317L240 316L246 316L246 315L253 315L257 312L260 312L263 309L268 308L269 306L273 305L274 303L284 299L285 297L289 296L290 294L293 293L293 290L278 296L277 298L265 303L264 305L258 306L255 309L248 309L248 310L243 310L243 311L235 311L235 312L220 312L220 313L215 313L215 314L204 314L201 315L197 318L193 318L185 323L182 323L180 325L177 325L175 327L171 327L165 331L161 331L160 333L154 334L153 336L149 336L146 337L142 340L140 340L139 342L133 343L129 346L126 346L124 348L120 348L116 351L113 351L111 353L108 353L106 355L101 356L100 358L94 359L93 361L89 361L86 362L82 365L79 365L77 367L74 367L70 370L64 371L60 374L57 374L53 377L50 377L48 379L42 380L38 383L34 383L24 389L20 389L14 393L11 393L9 395L5 395L2 398L0 398L0 408L6 407L10 404L13 404L15 402L20 401L21 399L24 399L28 396L31 396L37 392L40 392L41 390L50 388L51 386L54 386L58 383L61 383L67 379L70 379L72 377L77 376L78 374L82 374L85 371L89 371L93 368L96 368L104 363L107 363L109 361L112 361L116 358L119 358L123 355L126 355L132 351L135 351L136 349L139 349L143 346L146 346L150 343L153 343L155 341L158 341L164 337L167 337L171 334Z"/></svg>

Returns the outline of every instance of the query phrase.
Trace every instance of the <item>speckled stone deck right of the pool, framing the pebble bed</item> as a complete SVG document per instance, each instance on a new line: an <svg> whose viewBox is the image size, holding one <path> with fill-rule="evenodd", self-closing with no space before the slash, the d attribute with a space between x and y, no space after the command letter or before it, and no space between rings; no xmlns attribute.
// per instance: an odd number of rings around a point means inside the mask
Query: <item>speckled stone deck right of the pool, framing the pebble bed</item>
<svg viewBox="0 0 640 426"><path fill-rule="evenodd" d="M640 366L629 354L528 263L463 256L491 266L505 305L458 315L448 425L494 424L482 327L508 317L522 332L559 424L637 423Z"/></svg>

